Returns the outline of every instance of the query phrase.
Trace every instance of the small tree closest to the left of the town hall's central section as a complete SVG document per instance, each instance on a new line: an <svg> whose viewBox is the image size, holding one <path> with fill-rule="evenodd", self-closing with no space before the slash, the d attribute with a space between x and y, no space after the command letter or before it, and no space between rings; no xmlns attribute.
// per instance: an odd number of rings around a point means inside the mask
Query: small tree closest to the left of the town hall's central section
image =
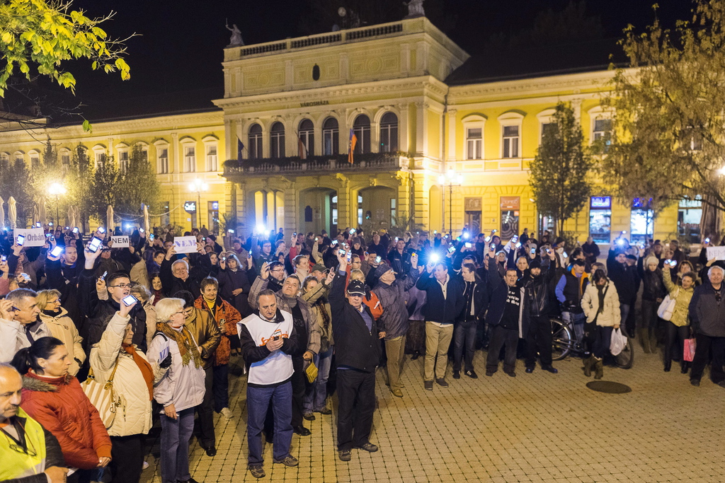
<svg viewBox="0 0 725 483"><path fill-rule="evenodd" d="M141 216L142 205L155 208L159 204L159 182L140 144L131 148L128 167L120 173L115 192L115 209L119 213Z"/></svg>

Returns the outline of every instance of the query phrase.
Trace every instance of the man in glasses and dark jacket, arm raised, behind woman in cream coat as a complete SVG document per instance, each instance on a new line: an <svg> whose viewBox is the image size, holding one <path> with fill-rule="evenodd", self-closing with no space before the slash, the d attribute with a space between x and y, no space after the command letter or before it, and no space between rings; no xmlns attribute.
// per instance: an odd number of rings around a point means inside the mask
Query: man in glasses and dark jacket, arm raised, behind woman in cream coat
<svg viewBox="0 0 725 483"><path fill-rule="evenodd" d="M78 277L78 304L83 314L88 317L83 326L81 336L83 337L86 353L91 351L91 346L99 343L108 322L120 308L123 298L130 295L131 281L125 272L115 272L106 277L106 290L108 299L101 301L96 292L96 277L94 276L94 263L100 255L99 251L93 253L86 248L86 269ZM131 308L128 313L133 329L133 343L139 349L146 352L146 311L141 303Z"/></svg>

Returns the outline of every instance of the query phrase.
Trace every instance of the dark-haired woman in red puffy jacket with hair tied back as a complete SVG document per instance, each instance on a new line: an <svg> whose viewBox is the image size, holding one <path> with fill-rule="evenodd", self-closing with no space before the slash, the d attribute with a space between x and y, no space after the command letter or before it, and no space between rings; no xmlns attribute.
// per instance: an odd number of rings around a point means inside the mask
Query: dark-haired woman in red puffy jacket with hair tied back
<svg viewBox="0 0 725 483"><path fill-rule="evenodd" d="M20 407L58 440L65 463L78 468L68 482L98 480L111 461L111 440L80 382L68 374L68 350L55 337L20 349L12 365L22 377Z"/></svg>

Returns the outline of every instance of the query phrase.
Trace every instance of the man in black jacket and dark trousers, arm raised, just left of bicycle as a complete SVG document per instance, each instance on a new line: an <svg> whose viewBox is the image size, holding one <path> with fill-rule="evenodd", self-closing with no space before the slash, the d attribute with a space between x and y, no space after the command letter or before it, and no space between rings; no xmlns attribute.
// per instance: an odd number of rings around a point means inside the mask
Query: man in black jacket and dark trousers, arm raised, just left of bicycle
<svg viewBox="0 0 725 483"><path fill-rule="evenodd" d="M542 250L542 256L546 256ZM555 255L548 253L548 258L542 261L534 259L529 264L529 274L521 280L523 283L524 308L529 312L529 331L526 334L526 373L534 372L539 354L542 369L552 374L558 373L551 365L551 322L550 311L550 287L551 280L556 273L554 264Z"/></svg>

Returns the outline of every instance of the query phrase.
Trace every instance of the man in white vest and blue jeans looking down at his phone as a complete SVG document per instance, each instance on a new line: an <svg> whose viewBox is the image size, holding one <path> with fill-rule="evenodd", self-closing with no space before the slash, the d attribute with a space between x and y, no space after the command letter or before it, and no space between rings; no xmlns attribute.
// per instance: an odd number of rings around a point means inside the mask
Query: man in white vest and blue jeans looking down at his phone
<svg viewBox="0 0 725 483"><path fill-rule="evenodd" d="M255 478L265 476L262 469L262 428L272 402L274 412L274 463L297 466L289 454L292 441L292 366L291 354L297 349L297 333L289 312L277 308L272 290L259 294L258 311L237 324L241 353L247 364L247 442L249 471Z"/></svg>

